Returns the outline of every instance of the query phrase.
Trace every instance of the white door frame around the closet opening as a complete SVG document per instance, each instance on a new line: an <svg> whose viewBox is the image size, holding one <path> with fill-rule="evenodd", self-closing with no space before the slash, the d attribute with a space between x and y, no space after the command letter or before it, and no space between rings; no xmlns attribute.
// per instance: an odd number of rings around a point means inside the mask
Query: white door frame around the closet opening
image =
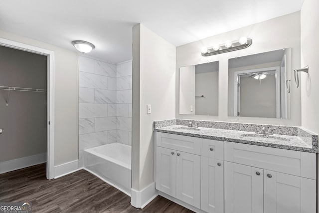
<svg viewBox="0 0 319 213"><path fill-rule="evenodd" d="M54 178L54 52L36 46L0 38L0 45L47 56L47 141L46 178Z"/></svg>

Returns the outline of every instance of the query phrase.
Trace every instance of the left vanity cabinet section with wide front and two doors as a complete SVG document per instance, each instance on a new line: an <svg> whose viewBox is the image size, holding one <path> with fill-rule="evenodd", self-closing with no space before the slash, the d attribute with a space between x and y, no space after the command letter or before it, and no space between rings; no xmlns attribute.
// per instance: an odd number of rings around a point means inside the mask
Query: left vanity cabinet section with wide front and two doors
<svg viewBox="0 0 319 213"><path fill-rule="evenodd" d="M156 189L200 209L201 139L156 135Z"/></svg>

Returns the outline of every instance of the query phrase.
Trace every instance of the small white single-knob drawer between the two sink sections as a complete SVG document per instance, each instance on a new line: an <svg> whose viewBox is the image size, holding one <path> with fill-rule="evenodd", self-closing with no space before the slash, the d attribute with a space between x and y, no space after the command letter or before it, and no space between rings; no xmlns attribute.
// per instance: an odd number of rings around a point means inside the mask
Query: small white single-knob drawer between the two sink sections
<svg viewBox="0 0 319 213"><path fill-rule="evenodd" d="M224 160L224 142L201 139L201 155L208 158Z"/></svg>

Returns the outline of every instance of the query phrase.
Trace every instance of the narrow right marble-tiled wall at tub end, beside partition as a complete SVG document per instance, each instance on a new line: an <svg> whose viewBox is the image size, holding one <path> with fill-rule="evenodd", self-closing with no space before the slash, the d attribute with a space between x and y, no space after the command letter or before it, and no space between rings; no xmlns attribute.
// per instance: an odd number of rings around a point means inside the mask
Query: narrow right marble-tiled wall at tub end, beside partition
<svg viewBox="0 0 319 213"><path fill-rule="evenodd" d="M116 66L116 141L132 145L132 61Z"/></svg>

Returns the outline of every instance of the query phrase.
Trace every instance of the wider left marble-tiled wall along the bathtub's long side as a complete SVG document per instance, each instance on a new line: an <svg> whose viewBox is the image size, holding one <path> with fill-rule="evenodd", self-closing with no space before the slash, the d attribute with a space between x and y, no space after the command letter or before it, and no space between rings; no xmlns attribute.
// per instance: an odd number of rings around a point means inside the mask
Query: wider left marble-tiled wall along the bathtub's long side
<svg viewBox="0 0 319 213"><path fill-rule="evenodd" d="M117 141L117 75L115 64L79 56L80 167L84 149Z"/></svg>

